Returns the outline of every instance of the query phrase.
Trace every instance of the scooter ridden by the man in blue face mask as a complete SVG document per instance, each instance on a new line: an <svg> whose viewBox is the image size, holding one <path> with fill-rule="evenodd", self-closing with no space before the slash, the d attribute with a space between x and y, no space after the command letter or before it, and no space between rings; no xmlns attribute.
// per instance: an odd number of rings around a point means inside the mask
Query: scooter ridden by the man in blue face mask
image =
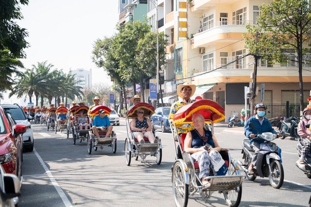
<svg viewBox="0 0 311 207"><path fill-rule="evenodd" d="M249 123L249 127L255 128L253 123ZM254 154L254 150L249 144L249 139L242 141L241 153L243 154L242 159L244 159L244 163L239 160L238 164L245 172L247 179L250 181L254 181L257 176L269 177L271 186L279 189L283 185L284 181L281 149L276 145L276 143L271 142L277 138L277 134L264 132L262 134L257 134L255 137L264 140L264 143L260 143L260 151L258 152L256 166L254 169L255 174L248 174L248 167L251 164Z"/></svg>

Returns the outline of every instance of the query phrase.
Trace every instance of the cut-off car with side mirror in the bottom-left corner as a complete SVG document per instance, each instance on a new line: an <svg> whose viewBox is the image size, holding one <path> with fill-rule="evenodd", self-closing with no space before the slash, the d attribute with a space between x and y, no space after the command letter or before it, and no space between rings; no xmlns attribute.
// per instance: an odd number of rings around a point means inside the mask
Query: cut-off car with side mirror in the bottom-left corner
<svg viewBox="0 0 311 207"><path fill-rule="evenodd" d="M0 165L0 206L17 206L18 196L20 196L20 181L18 177L5 173Z"/></svg>

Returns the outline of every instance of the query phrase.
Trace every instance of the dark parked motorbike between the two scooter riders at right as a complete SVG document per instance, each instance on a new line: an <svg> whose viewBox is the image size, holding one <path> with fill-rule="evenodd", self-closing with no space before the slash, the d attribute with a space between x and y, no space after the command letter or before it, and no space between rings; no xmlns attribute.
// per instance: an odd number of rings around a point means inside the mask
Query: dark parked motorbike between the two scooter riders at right
<svg viewBox="0 0 311 207"><path fill-rule="evenodd" d="M284 140L285 137L293 137L295 140L297 140L299 138L297 133L299 118L292 116L288 119L288 121L281 120L280 123L281 124L278 125L278 129L282 134L280 139Z"/></svg>

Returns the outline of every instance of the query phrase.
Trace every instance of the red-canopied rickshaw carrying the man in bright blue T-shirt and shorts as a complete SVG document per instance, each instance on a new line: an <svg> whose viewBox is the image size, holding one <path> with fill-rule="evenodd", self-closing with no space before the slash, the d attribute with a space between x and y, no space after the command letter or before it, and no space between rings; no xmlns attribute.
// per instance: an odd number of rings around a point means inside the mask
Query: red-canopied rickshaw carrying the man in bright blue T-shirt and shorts
<svg viewBox="0 0 311 207"><path fill-rule="evenodd" d="M103 109L105 111L106 115L109 115L111 112L111 109L109 109L106 106L98 105L91 109L90 111L90 123L93 122L91 117L99 116L98 111L100 109ZM90 125L91 126L91 125ZM100 147L101 149L104 148L104 146L110 146L112 147L112 152L116 153L117 151L117 135L114 130L111 131L111 134L108 135L109 137L106 137L106 133L99 133L100 138L97 138L95 134L93 133L92 128L88 131L87 134L87 151L88 154L91 154L92 148L94 148L95 151L97 151L97 148Z"/></svg>

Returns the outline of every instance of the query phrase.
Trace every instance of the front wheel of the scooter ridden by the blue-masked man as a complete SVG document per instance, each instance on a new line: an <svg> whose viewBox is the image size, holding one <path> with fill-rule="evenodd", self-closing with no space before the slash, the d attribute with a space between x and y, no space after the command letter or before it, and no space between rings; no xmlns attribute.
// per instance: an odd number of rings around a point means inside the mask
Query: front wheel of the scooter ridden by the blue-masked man
<svg viewBox="0 0 311 207"><path fill-rule="evenodd" d="M270 163L271 172L269 172L269 181L273 188L279 189L283 185L284 170L279 160L273 159Z"/></svg>

